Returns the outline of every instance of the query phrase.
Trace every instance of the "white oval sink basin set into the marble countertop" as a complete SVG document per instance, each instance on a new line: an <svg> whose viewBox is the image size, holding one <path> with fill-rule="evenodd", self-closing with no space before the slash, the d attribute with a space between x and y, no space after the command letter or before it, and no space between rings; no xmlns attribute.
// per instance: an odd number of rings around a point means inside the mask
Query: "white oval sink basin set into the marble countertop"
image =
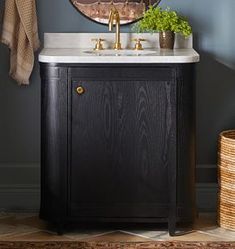
<svg viewBox="0 0 235 249"><path fill-rule="evenodd" d="M144 55L157 55L157 51L154 50L87 50L83 51L85 54L96 56L144 56Z"/></svg>

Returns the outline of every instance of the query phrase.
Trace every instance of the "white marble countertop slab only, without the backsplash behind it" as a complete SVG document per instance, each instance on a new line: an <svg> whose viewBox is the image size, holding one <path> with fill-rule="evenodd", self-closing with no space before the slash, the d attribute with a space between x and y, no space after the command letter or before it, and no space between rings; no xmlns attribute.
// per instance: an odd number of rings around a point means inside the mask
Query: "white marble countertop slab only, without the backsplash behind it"
<svg viewBox="0 0 235 249"><path fill-rule="evenodd" d="M143 52L133 50L103 50L100 53L89 49L45 48L39 55L44 63L195 63L199 54L188 49L146 49Z"/></svg>

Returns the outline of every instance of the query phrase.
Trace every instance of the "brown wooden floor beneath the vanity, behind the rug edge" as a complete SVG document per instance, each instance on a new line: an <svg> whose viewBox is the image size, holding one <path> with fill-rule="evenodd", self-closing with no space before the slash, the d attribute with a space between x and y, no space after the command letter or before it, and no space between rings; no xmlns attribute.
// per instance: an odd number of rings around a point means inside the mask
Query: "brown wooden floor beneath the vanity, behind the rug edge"
<svg viewBox="0 0 235 249"><path fill-rule="evenodd" d="M69 227L63 236L38 218L37 214L0 213L0 241L235 241L235 232L219 228L214 214L200 214L194 230L170 237L166 226Z"/></svg>

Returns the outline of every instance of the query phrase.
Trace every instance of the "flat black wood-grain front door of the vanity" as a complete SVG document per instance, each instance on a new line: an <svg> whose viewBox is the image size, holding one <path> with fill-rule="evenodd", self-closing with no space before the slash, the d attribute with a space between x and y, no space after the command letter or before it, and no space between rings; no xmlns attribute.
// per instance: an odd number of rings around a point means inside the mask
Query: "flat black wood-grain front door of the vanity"
<svg viewBox="0 0 235 249"><path fill-rule="evenodd" d="M70 215L166 217L168 169L176 166L174 74L112 70L72 74Z"/></svg>

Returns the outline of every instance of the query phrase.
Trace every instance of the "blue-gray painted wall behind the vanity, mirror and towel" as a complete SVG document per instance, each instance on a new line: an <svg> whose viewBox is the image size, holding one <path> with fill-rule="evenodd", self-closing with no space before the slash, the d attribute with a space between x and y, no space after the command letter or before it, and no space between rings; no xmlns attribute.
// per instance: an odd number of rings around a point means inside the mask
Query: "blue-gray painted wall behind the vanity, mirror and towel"
<svg viewBox="0 0 235 249"><path fill-rule="evenodd" d="M37 5L41 40L44 32L107 31L81 16L69 0L38 0ZM161 5L188 16L193 26L194 45L201 54L197 66L197 164L214 165L219 132L235 128L235 1L162 0ZM9 51L0 45L0 185L5 188L5 192L0 188L0 197L4 193L6 199L9 186L14 193L27 186L38 191L40 161L38 62L27 87L17 86L8 70Z"/></svg>

